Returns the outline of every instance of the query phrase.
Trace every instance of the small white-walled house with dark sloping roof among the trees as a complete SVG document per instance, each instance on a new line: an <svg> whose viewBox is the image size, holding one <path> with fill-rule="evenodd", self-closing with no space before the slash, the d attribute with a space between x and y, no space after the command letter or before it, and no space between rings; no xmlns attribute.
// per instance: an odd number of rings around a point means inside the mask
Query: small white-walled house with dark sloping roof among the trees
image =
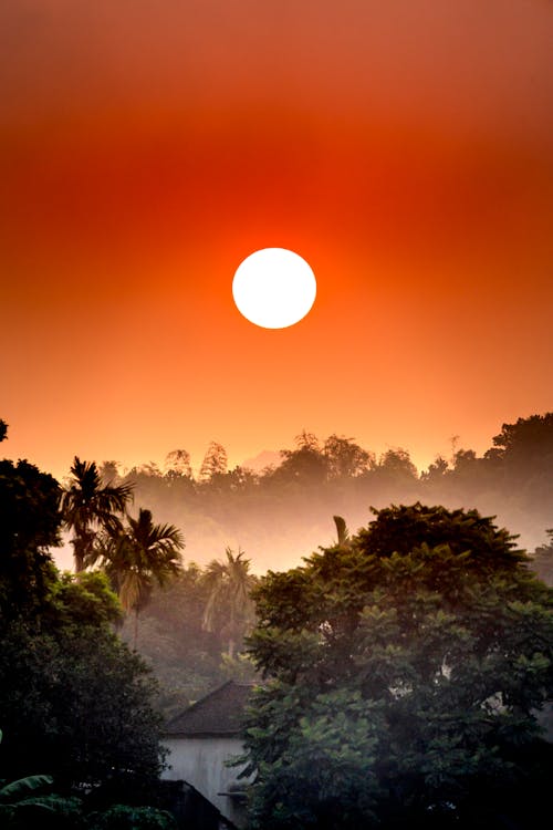
<svg viewBox="0 0 553 830"><path fill-rule="evenodd" d="M164 736L170 768L163 777L191 785L238 828L246 821L244 781L226 761L243 750L240 729L251 689L251 683L225 683L174 717Z"/></svg>

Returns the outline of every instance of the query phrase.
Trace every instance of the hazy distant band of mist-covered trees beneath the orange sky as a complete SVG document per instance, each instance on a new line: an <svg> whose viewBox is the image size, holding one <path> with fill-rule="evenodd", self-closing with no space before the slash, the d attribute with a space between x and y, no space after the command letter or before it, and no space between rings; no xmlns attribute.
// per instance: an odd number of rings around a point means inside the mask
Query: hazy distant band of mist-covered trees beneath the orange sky
<svg viewBox="0 0 553 830"><path fill-rule="evenodd" d="M333 515L355 530L369 519L371 506L417 500L497 516L533 550L553 523L553 413L503 424L482 456L453 447L450 458L438 457L421 473L407 449L377 457L351 437L321 439L306 430L281 450L278 466L261 473L229 470L215 442L197 478L186 449L169 453L163 470L150 464L123 473L107 461L100 471L106 484L132 485L159 521L182 528L187 556L199 563L230 546L247 551L253 572L292 567L331 541Z"/></svg>

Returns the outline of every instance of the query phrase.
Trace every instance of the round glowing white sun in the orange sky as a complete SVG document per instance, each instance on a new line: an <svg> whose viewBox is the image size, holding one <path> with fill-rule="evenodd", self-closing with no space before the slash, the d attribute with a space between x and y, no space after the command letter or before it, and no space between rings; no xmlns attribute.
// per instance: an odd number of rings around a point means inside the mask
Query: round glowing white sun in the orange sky
<svg viewBox="0 0 553 830"><path fill-rule="evenodd" d="M251 323L262 329L286 329L299 323L315 302L315 274L294 251L263 248L239 264L232 295Z"/></svg>

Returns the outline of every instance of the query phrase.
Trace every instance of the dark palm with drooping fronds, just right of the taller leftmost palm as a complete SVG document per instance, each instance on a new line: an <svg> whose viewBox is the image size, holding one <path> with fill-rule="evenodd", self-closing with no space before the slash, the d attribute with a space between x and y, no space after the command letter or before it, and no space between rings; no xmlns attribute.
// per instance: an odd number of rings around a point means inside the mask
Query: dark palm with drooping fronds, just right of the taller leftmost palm
<svg viewBox="0 0 553 830"><path fill-rule="evenodd" d="M134 647L138 614L148 603L154 583L165 585L181 570L182 533L175 525L155 525L152 511L140 508L138 518L127 517L127 527L103 536L93 561L102 560L123 609L134 612Z"/></svg>

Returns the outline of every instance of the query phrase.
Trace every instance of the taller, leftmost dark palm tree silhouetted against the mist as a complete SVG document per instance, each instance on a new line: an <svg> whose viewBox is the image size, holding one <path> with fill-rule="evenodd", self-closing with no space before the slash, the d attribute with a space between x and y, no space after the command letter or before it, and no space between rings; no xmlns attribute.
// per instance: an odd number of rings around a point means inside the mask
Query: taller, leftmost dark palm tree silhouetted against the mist
<svg viewBox="0 0 553 830"><path fill-rule="evenodd" d="M116 532L133 497L133 485L104 485L96 463L87 464L77 456L71 467L72 479L61 500L63 523L73 531L73 556L79 573L88 563L98 531Z"/></svg>

